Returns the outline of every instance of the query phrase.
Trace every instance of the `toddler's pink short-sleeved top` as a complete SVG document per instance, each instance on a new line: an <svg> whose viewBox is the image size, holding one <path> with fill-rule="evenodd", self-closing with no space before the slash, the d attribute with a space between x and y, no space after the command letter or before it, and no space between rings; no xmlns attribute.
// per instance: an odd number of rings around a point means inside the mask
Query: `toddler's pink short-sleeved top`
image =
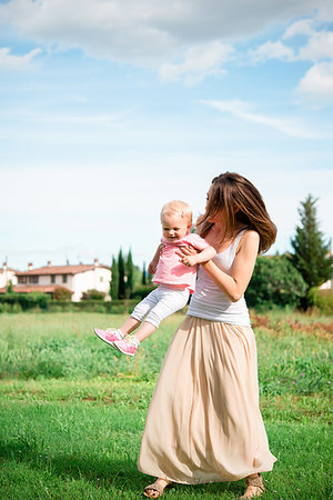
<svg viewBox="0 0 333 500"><path fill-rule="evenodd" d="M180 262L180 257L175 253L179 247L191 246L201 251L209 247L208 242L199 234L189 233L178 241L161 239L163 244L159 266L153 277L153 282L159 284L170 284L176 288L189 288L190 293L195 290L196 266L188 267Z"/></svg>

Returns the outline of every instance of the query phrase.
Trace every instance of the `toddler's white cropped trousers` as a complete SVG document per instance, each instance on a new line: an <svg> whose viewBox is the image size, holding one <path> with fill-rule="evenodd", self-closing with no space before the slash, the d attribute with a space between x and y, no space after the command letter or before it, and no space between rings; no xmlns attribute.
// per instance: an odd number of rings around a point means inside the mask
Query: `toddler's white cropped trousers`
<svg viewBox="0 0 333 500"><path fill-rule="evenodd" d="M186 306L189 296L188 289L178 290L160 284L138 303L131 317L139 321L143 321L145 317L145 321L159 328L163 319Z"/></svg>

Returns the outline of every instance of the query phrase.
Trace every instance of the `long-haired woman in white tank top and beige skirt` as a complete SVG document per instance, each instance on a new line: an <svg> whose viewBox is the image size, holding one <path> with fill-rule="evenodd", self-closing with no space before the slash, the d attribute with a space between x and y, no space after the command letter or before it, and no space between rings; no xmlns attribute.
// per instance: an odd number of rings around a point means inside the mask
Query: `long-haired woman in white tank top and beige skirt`
<svg viewBox="0 0 333 500"><path fill-rule="evenodd" d="M186 319L174 334L151 400L139 470L157 476L144 494L173 482L246 478L242 498L264 491L276 460L259 409L256 347L244 292L276 228L256 188L236 173L213 179L198 231L216 250L201 263ZM181 260L191 266L194 250Z"/></svg>

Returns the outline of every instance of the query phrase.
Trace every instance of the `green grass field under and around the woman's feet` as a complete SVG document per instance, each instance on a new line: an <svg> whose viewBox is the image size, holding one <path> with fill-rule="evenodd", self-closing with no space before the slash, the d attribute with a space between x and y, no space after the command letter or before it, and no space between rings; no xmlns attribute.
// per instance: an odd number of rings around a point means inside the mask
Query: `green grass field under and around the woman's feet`
<svg viewBox="0 0 333 500"><path fill-rule="evenodd" d="M120 356L93 333L121 316L0 314L0 498L134 499L145 412L174 316ZM261 409L278 457L268 499L330 499L332 413L329 318L253 316ZM235 499L243 483L178 486L173 499Z"/></svg>

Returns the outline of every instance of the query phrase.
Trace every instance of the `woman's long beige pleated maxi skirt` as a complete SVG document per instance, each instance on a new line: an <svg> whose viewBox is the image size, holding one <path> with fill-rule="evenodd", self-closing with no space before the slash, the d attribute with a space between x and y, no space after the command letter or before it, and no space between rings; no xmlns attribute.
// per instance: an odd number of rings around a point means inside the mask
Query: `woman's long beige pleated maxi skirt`
<svg viewBox="0 0 333 500"><path fill-rule="evenodd" d="M148 410L139 470L196 484L270 471L275 460L259 409L252 329L188 316Z"/></svg>

